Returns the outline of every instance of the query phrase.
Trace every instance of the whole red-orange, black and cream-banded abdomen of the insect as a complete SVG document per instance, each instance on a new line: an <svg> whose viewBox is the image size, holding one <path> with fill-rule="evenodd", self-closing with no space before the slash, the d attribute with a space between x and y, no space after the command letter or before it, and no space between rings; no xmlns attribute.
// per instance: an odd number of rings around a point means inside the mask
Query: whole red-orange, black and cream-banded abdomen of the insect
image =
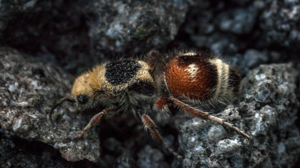
<svg viewBox="0 0 300 168"><path fill-rule="evenodd" d="M168 90L178 99L216 103L238 91L239 76L217 58L186 53L171 59L165 69Z"/></svg>

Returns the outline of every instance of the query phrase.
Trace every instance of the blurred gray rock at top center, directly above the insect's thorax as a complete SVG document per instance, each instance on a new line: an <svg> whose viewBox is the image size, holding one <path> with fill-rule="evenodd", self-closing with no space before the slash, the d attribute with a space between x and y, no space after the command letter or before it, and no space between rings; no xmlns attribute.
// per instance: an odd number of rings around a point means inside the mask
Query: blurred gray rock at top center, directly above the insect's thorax
<svg viewBox="0 0 300 168"><path fill-rule="evenodd" d="M92 53L98 55L107 50L136 54L166 45L177 35L187 7L183 0L155 3L93 0L88 6L88 14L96 16L89 30Z"/></svg>

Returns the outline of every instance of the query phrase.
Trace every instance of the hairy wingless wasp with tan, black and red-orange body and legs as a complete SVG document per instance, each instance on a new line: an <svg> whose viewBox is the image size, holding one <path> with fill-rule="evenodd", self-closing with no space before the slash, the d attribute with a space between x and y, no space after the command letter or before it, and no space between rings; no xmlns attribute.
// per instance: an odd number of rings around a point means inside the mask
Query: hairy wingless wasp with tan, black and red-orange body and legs
<svg viewBox="0 0 300 168"><path fill-rule="evenodd" d="M173 104L188 114L222 124L251 139L233 124L193 107L223 104L234 99L240 83L234 68L221 59L197 52L177 51L158 59L160 64L154 63L155 55L159 55L158 52L151 51L147 58L152 59L148 61L128 59L107 62L84 72L73 84L72 99L63 98L51 108L51 123L53 110L64 101L76 103L79 109L98 104L107 107L90 120L77 138L81 138L108 113L132 111L140 116L153 140L181 159L182 156L164 142L153 120L147 115L155 110L168 113L168 106Z"/></svg>

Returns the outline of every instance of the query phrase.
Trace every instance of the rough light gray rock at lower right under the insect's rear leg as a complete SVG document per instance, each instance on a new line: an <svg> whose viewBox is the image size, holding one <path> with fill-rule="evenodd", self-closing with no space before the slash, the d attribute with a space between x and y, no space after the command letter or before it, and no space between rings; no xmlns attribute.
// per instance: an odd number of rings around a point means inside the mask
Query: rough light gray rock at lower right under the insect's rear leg
<svg viewBox="0 0 300 168"><path fill-rule="evenodd" d="M296 75L292 64L261 65L242 80L239 103L218 113L251 141L202 119L181 125L183 166L292 167L300 154Z"/></svg>

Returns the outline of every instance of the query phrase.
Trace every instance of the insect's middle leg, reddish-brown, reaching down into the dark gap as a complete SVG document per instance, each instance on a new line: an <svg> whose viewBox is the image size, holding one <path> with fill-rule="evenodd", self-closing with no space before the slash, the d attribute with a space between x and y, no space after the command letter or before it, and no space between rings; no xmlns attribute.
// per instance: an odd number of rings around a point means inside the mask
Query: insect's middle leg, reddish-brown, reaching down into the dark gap
<svg viewBox="0 0 300 168"><path fill-rule="evenodd" d="M180 156L177 152L174 152L174 150L171 147L169 147L166 142L163 141L163 138L160 136L160 134L158 133L158 130L155 128L155 124L154 124L153 120L146 114L142 115L141 118L142 118L143 124L145 125L145 128L149 129L152 139L154 141L158 142L159 144L162 144L165 149L167 149L170 153L172 153L178 159L182 160L183 157Z"/></svg>

